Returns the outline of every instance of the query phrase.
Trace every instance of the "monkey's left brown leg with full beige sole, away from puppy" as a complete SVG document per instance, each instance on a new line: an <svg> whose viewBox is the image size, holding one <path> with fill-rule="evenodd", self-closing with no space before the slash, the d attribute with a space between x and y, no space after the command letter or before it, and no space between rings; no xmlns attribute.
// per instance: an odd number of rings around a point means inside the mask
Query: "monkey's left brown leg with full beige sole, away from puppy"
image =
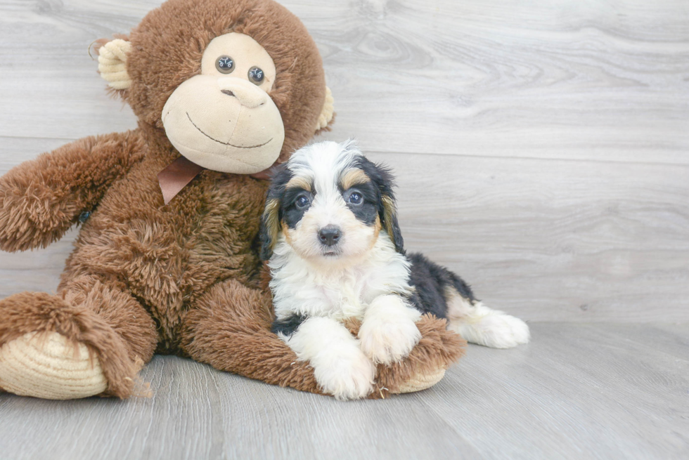
<svg viewBox="0 0 689 460"><path fill-rule="evenodd" d="M117 282L82 276L60 296L0 300L0 387L18 395L128 397L153 356L153 319Z"/></svg>

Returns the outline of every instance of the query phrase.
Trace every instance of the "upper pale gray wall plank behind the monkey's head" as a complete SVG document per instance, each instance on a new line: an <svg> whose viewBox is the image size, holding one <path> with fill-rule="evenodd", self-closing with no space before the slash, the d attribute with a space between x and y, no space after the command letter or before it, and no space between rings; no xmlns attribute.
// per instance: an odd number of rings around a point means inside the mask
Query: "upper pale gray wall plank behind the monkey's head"
<svg viewBox="0 0 689 460"><path fill-rule="evenodd" d="M382 152L689 162L681 0L284 3L323 54L338 113L328 138ZM157 4L2 1L0 136L134 126L86 48Z"/></svg>

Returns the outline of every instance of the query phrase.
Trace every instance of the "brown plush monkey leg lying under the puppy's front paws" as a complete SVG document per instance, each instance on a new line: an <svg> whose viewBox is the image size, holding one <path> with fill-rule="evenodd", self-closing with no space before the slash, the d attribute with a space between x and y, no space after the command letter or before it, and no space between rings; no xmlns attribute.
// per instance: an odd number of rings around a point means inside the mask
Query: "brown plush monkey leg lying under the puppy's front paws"
<svg viewBox="0 0 689 460"><path fill-rule="evenodd" d="M314 372L278 336L271 333L270 296L235 280L221 282L188 310L183 319L183 350L216 369L297 390L322 393ZM464 353L460 336L446 330L445 320L424 315L416 323L422 338L401 362L378 366L370 397L428 388ZM356 336L358 325L350 328Z"/></svg>

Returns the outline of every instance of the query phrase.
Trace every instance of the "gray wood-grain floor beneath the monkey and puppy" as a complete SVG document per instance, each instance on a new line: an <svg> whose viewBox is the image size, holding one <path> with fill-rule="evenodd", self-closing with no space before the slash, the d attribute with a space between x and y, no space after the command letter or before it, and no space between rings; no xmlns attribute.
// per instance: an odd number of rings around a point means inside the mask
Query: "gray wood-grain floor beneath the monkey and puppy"
<svg viewBox="0 0 689 460"><path fill-rule="evenodd" d="M337 402L178 357L155 395L0 395L8 459L684 459L689 327L532 324L513 350L470 346L430 390Z"/></svg>

